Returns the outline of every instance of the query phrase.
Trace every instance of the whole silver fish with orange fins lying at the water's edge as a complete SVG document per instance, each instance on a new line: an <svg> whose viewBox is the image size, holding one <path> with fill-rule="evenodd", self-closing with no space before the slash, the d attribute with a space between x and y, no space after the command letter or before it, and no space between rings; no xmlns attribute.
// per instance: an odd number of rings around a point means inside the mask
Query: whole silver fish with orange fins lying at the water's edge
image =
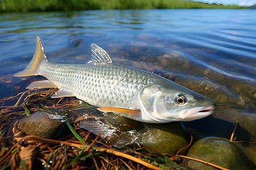
<svg viewBox="0 0 256 170"><path fill-rule="evenodd" d="M49 62L42 42L30 63L14 76L44 76L26 88L58 88L51 97L70 97L136 121L163 124L192 121L213 113L216 103L162 76L114 63L100 46L91 44L92 58L82 64Z"/></svg>

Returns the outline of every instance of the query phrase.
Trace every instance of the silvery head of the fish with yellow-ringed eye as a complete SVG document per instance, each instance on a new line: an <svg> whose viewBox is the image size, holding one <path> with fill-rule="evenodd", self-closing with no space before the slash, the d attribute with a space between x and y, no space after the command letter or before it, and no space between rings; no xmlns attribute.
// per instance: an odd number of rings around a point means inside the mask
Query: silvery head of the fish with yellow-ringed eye
<svg viewBox="0 0 256 170"><path fill-rule="evenodd" d="M179 84L150 85L139 93L139 108L147 122L192 121L213 113L213 100Z"/></svg>

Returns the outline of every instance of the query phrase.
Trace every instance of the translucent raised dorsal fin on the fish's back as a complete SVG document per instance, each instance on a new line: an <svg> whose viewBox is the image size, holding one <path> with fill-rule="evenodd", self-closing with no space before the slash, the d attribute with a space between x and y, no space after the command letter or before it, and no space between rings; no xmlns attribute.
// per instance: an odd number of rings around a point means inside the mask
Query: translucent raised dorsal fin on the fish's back
<svg viewBox="0 0 256 170"><path fill-rule="evenodd" d="M110 58L109 54L100 46L96 44L91 44L90 49L92 50L92 59L88 61L88 63L94 64L108 64L112 63L112 59Z"/></svg>

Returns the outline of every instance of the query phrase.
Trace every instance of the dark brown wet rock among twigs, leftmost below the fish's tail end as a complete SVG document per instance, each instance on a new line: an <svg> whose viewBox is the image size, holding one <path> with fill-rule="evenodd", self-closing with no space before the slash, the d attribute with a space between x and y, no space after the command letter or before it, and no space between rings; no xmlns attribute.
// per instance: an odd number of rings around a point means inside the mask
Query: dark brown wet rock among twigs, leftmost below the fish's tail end
<svg viewBox="0 0 256 170"><path fill-rule="evenodd" d="M23 117L18 122L18 129L27 135L57 139L69 133L65 122L61 122L63 117L51 111L39 111L30 116Z"/></svg>

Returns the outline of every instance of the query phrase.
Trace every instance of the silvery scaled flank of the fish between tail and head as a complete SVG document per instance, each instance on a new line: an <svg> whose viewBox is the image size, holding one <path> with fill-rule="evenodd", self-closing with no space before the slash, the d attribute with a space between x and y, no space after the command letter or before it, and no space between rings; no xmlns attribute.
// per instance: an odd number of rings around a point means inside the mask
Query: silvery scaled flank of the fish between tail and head
<svg viewBox="0 0 256 170"><path fill-rule="evenodd" d="M145 79L152 78L142 70L115 63L73 65L43 62L38 71L57 87L72 91L79 99L101 107L127 107L138 88L148 85Z"/></svg>

